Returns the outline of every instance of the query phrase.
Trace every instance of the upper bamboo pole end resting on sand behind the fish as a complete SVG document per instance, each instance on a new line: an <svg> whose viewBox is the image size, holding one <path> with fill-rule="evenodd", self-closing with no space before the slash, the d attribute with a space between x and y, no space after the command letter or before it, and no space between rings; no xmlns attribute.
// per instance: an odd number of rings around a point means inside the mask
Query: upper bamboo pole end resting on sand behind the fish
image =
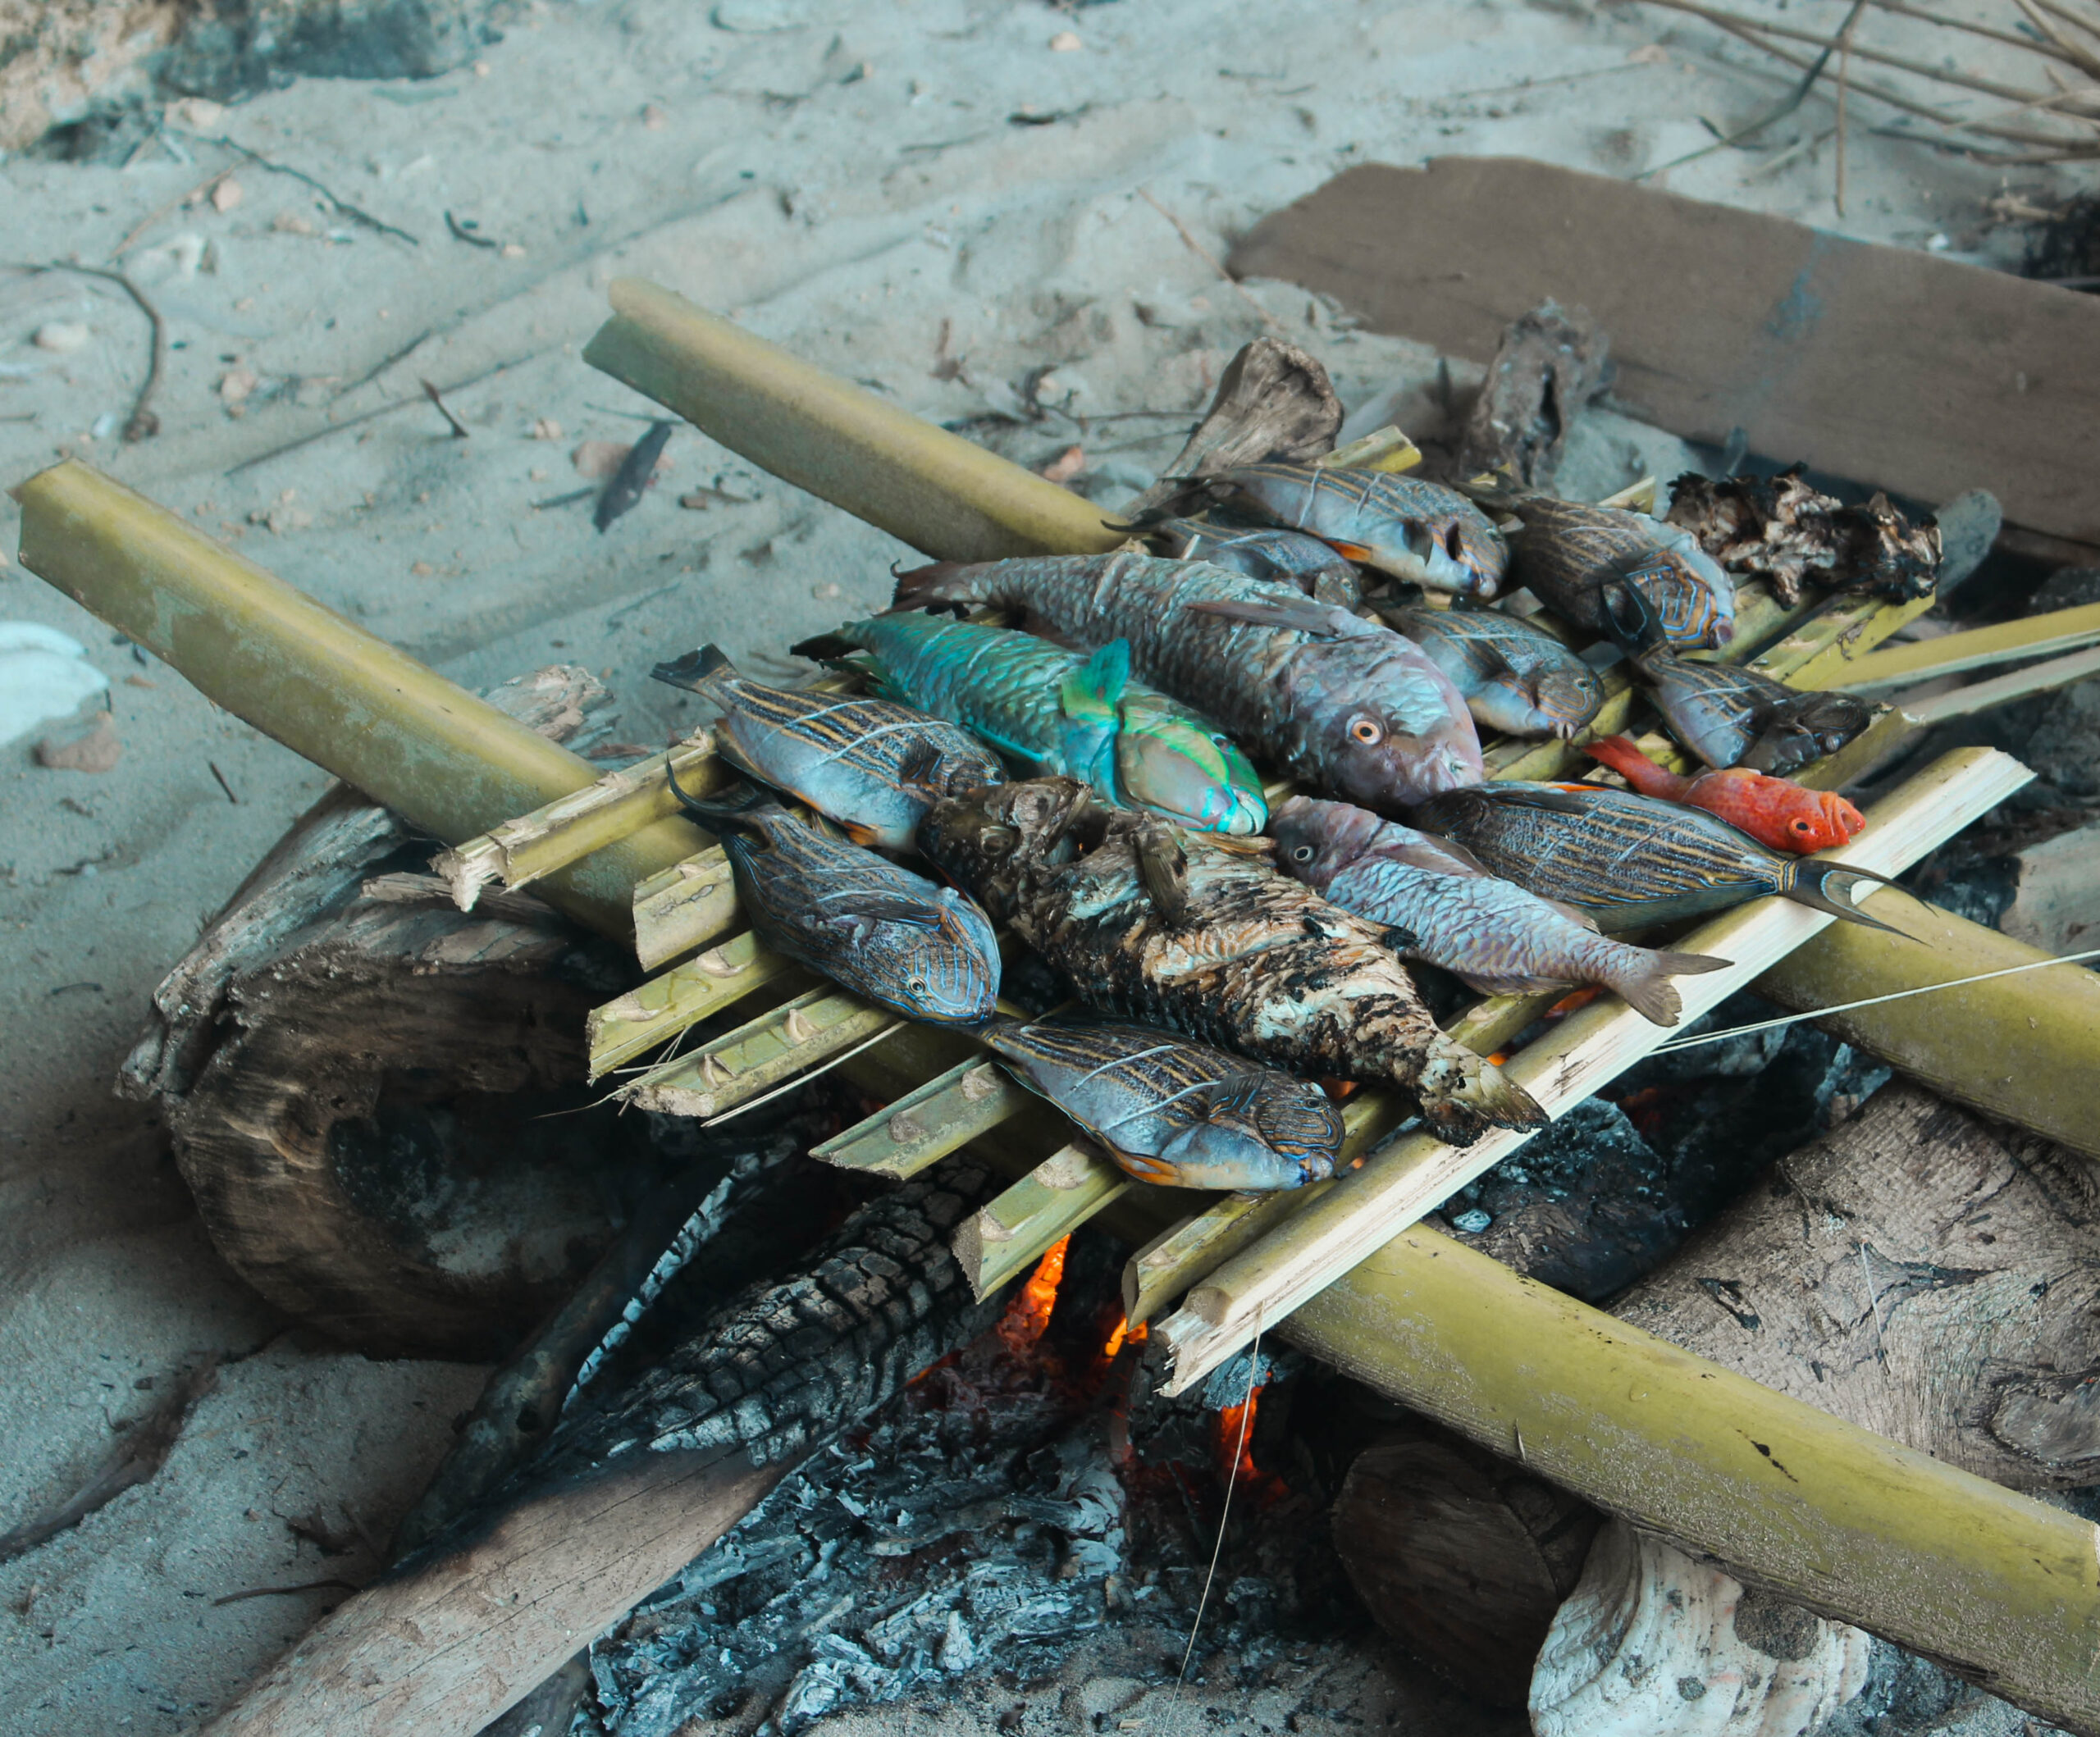
<svg viewBox="0 0 2100 1737"><path fill-rule="evenodd" d="M937 561L1071 554L1124 538L1082 496L769 344L685 296L615 277L584 361L775 477Z"/></svg>

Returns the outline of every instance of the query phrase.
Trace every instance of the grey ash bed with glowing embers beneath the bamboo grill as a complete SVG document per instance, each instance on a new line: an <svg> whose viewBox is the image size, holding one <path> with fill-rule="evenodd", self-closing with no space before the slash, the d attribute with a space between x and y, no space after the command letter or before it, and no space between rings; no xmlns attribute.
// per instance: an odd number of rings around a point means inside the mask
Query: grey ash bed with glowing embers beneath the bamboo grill
<svg viewBox="0 0 2100 1737"><path fill-rule="evenodd" d="M785 1479L592 1647L571 1737L695 1718L794 1737L859 1703L1048 1676L1107 1626L1136 1674L1172 1682L1235 1466L1191 1674L1228 1653L1252 1684L1365 1630L1319 1479L1254 1470L1254 1449L1292 1458L1289 1363L1264 1359L1268 1426L1239 1460L1239 1411L1153 1395L1140 1340L1117 1334L1117 1269L1079 1233L1054 1306L1023 1285L995 1330ZM1241 1401L1247 1376L1205 1397Z"/></svg>

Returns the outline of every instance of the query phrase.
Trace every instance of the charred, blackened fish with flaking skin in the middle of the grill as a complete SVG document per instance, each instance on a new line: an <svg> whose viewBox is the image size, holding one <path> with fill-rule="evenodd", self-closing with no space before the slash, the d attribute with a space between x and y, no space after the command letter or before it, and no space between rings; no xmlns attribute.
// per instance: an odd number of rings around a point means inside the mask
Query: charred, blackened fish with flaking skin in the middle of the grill
<svg viewBox="0 0 2100 1737"><path fill-rule="evenodd" d="M1546 1122L1522 1086L1436 1029L1376 924L1250 844L1048 777L937 802L920 849L1105 1014L1294 1073L1396 1084L1457 1145Z"/></svg>

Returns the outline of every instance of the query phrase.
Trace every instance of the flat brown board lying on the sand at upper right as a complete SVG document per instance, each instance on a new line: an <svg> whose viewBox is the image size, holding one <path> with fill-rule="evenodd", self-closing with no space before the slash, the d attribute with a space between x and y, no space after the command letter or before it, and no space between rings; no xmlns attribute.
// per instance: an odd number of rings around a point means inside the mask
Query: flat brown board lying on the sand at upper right
<svg viewBox="0 0 2100 1737"><path fill-rule="evenodd" d="M1228 265L1478 361L1552 296L1609 332L1617 399L1686 439L1743 428L1922 502L1987 487L2100 544L2100 296L1518 158L1346 170Z"/></svg>

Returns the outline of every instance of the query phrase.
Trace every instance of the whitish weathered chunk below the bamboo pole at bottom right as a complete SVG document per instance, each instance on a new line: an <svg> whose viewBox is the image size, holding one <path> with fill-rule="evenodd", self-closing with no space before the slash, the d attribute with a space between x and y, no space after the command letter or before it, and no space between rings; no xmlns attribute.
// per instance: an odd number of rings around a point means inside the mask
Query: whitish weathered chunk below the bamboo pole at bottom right
<svg viewBox="0 0 2100 1737"><path fill-rule="evenodd" d="M1720 1569L1609 1521L1531 1670L1535 1737L1804 1737L1867 1687L1861 1630L1758 1594L1766 1619L1745 1638L1743 1596Z"/></svg>

